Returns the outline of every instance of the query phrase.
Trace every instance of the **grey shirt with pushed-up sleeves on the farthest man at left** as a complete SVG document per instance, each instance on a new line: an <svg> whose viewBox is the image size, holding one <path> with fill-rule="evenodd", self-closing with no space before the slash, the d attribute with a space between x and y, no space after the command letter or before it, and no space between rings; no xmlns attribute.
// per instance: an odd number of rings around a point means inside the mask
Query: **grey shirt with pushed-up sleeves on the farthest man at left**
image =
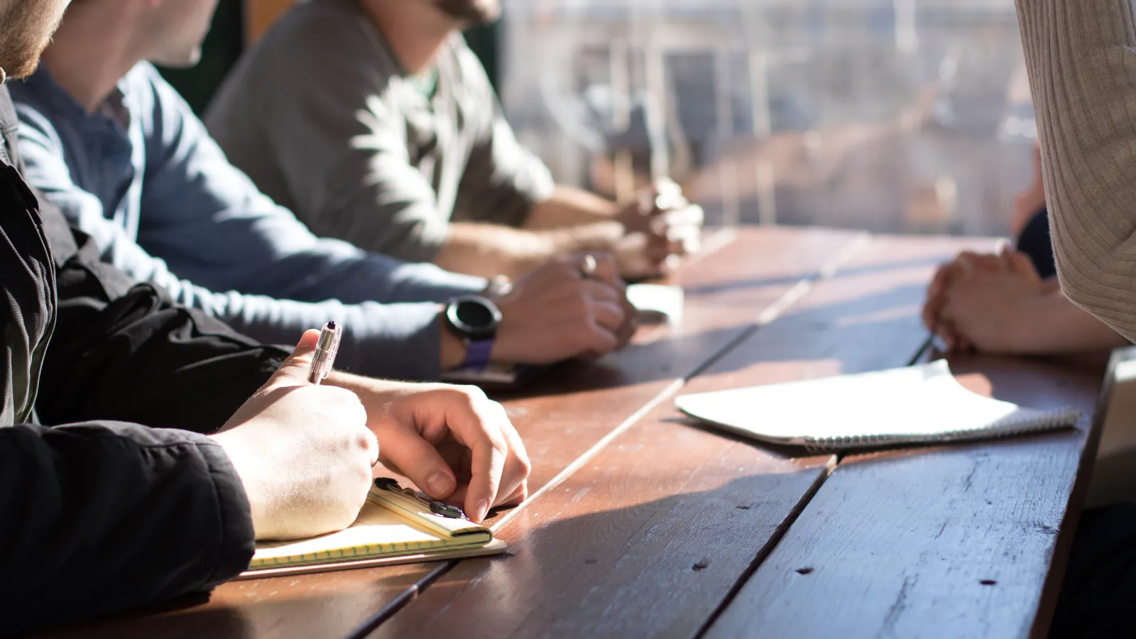
<svg viewBox="0 0 1136 639"><path fill-rule="evenodd" d="M438 60L438 92L452 100L411 108L395 84L404 72L365 22L301 7L249 53L207 116L235 164L285 193L316 233L408 262L436 258L451 208L453 219L523 224L554 185L476 56L456 36ZM419 149L425 159L411 157Z"/></svg>

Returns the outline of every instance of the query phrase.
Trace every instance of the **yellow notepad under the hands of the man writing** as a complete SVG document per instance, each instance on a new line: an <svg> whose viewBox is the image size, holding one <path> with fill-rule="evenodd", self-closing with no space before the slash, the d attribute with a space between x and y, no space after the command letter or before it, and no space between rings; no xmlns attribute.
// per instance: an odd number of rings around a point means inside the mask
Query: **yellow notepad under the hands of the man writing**
<svg viewBox="0 0 1136 639"><path fill-rule="evenodd" d="M394 489L384 488L384 481ZM493 532L428 498L412 497L390 480L376 480L350 528L302 539L257 543L244 579L494 555L506 545ZM423 496L425 497L425 496Z"/></svg>

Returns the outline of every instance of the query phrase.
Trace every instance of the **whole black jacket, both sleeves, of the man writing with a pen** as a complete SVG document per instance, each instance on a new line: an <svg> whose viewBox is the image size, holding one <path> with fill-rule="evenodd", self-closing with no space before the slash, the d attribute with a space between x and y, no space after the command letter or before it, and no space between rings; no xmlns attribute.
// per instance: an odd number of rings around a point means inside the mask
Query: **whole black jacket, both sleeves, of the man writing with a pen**
<svg viewBox="0 0 1136 639"><path fill-rule="evenodd" d="M14 168L14 131L0 86L0 634L248 567L248 498L224 450L150 426L219 428L284 356L132 288L58 210L41 217ZM34 421L33 406L85 423L14 425Z"/></svg>

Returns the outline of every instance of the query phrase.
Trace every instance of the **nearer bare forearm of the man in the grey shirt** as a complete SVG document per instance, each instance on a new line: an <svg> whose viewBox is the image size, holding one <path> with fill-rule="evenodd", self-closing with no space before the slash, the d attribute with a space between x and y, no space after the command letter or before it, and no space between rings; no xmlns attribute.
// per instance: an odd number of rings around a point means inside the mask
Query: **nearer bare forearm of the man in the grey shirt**
<svg viewBox="0 0 1136 639"><path fill-rule="evenodd" d="M610 251L623 236L615 221L571 229L531 231L498 224L456 222L434 263L448 271L519 277L558 255Z"/></svg>

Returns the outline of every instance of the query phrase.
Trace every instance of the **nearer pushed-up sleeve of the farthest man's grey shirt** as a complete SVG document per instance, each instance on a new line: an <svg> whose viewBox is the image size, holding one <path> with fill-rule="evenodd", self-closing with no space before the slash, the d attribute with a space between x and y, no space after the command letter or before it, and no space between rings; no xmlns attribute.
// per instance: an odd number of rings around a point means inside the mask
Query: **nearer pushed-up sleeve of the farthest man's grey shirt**
<svg viewBox="0 0 1136 639"><path fill-rule="evenodd" d="M285 192L318 235L432 262L449 224L412 166L407 123L390 100L396 67L375 59L379 49L361 22L317 6L298 11L302 19L287 16L222 88L206 118L210 131L237 166L273 176L269 190ZM244 126L250 111L254 132Z"/></svg>

